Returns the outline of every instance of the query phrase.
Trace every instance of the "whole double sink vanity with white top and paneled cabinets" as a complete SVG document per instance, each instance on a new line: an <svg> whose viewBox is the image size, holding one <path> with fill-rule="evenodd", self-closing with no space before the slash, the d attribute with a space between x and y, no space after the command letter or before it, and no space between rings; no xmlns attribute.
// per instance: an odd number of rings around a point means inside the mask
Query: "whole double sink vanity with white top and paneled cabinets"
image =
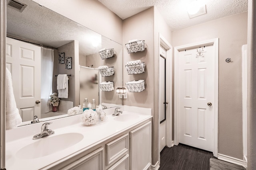
<svg viewBox="0 0 256 170"><path fill-rule="evenodd" d="M96 125L81 123L81 115L53 119L53 135L33 140L46 122L6 131L7 170L150 169L149 108L121 106L104 109L107 119Z"/></svg>

